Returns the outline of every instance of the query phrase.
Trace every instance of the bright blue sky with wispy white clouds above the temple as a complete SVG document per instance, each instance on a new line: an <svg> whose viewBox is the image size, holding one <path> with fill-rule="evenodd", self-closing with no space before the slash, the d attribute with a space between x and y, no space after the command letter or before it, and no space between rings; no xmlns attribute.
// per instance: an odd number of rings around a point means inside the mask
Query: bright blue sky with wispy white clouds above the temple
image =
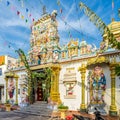
<svg viewBox="0 0 120 120"><path fill-rule="evenodd" d="M112 0L59 1L60 5L57 4L57 0L0 0L0 55L17 57L15 50L19 48L23 49L25 53L28 52L30 26L33 19L36 21L41 17L43 5L46 6L48 13L51 13L54 9L58 11L58 32L61 45L67 44L71 38L78 38L79 41L84 39L89 44L95 44L96 46L99 46L102 41L98 29L79 9L79 2L86 4L106 24L111 22L112 17L116 21L120 21L118 17L120 0L113 0L113 10ZM62 13L60 10L62 10ZM19 15L17 15L17 11L20 12ZM20 16L24 16L24 18Z"/></svg>

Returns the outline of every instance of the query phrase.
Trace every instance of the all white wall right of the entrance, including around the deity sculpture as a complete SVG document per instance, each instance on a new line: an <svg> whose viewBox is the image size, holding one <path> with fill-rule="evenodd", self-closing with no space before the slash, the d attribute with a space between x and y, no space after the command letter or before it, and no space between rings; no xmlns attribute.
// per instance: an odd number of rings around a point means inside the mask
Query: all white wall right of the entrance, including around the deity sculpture
<svg viewBox="0 0 120 120"><path fill-rule="evenodd" d="M69 106L69 109L71 110L76 110L76 109L80 109L80 104L81 104L81 74L78 71L78 68L81 66L81 62L71 62L71 63L64 63L61 64L61 71L60 71L60 85L59 85L59 89L60 89L60 98L62 100L62 102ZM105 91L105 96L104 96L104 100L106 103L106 111L109 111L109 107L111 105L111 77L110 77L110 69L109 69L109 65L108 64L101 64L100 67L103 68L103 72L106 78L106 91ZM75 94L75 98L74 99L66 99L64 97L64 95L66 94L66 88L65 85L63 84L64 81L64 74L66 72L66 68L75 68L76 71L76 85L74 87L74 94ZM89 89L88 87L88 80L87 80L87 76L88 76L88 71L89 70L93 70L94 67L88 68L86 71L86 78L85 78L85 103L88 105L90 100L89 100ZM120 82L119 77L116 78L116 105L120 106L119 100L120 100L120 88L118 82Z"/></svg>

